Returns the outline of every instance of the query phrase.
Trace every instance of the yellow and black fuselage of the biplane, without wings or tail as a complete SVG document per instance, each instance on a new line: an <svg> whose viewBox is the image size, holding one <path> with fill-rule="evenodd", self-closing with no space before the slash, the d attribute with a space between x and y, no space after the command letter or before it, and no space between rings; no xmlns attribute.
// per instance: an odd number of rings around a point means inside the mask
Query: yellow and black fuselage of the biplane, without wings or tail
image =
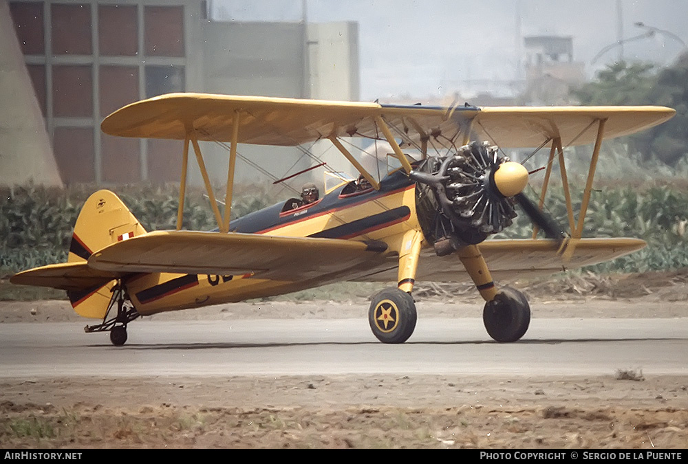
<svg viewBox="0 0 688 464"><path fill-rule="evenodd" d="M383 241L398 252L409 230L420 230L416 184L404 173L391 173L380 190L347 193L343 182L319 201L283 211L285 201L230 223L230 232ZM299 263L294 263L298 266ZM352 276L353 277L353 276ZM138 274L125 281L129 298L142 315L190 307L262 298L324 285L327 280L266 280L252 274Z"/></svg>

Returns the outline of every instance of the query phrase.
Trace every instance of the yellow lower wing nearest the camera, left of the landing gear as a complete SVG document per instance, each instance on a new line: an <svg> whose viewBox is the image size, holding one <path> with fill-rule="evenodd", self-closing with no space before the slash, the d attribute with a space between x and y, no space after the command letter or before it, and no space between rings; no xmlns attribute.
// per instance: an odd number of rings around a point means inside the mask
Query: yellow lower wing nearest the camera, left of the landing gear
<svg viewBox="0 0 688 464"><path fill-rule="evenodd" d="M385 263L386 250L379 242L173 231L113 243L88 263L106 272L253 273L274 280L317 280Z"/></svg>

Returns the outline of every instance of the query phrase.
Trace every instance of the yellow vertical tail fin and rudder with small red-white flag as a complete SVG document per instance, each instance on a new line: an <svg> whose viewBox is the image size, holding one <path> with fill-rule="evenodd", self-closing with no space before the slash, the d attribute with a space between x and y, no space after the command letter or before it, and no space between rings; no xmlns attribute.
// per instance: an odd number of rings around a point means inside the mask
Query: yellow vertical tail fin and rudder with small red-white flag
<svg viewBox="0 0 688 464"><path fill-rule="evenodd" d="M85 262L94 252L111 243L145 233L146 230L117 195L109 190L98 190L86 200L76 219L67 262ZM115 284L116 280L111 280L105 285L68 290L67 296L80 316L103 318Z"/></svg>

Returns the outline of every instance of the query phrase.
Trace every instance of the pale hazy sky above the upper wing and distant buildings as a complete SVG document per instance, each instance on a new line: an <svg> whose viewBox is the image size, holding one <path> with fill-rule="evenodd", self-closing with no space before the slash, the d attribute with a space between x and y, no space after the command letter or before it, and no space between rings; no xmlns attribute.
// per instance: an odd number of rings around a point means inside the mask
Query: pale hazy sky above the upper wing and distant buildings
<svg viewBox="0 0 688 464"><path fill-rule="evenodd" d="M299 21L303 0L214 0L216 19ZM656 27L652 38L623 45L627 60L667 65L688 43L685 0L308 0L310 22L357 21L361 100L395 96L462 96L481 89L508 91L518 76L521 36L572 36L574 60L588 76L619 58L621 37ZM620 5L620 6L619 6ZM518 14L520 12L520 14ZM622 30L619 31L619 12ZM672 34L678 36L674 38Z"/></svg>

